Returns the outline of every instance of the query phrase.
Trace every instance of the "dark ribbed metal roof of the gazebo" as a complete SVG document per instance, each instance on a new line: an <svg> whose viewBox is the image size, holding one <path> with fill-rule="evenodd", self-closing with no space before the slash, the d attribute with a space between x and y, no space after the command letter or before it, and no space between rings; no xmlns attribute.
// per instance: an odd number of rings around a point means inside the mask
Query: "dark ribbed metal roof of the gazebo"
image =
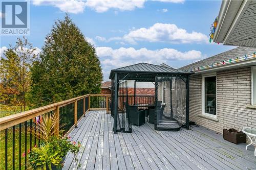
<svg viewBox="0 0 256 170"><path fill-rule="evenodd" d="M163 67L155 64L148 64L148 63L138 63L134 65L129 65L121 68L112 69L110 72L110 79L113 77L114 73L124 73L124 74L143 74L143 77L146 79L145 75L150 75L148 79L152 79L156 74L168 75L168 74L193 74L190 71L183 71L179 69ZM153 76L151 76L153 75ZM142 77L141 77L142 79ZM128 80L128 79L127 79ZM135 80L132 76L130 76L129 80Z"/></svg>

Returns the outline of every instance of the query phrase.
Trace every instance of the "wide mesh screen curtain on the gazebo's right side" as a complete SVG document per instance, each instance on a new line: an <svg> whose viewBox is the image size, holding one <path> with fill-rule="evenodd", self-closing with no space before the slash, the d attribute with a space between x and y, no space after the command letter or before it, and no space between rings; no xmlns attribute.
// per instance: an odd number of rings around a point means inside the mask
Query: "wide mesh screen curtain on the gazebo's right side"
<svg viewBox="0 0 256 170"><path fill-rule="evenodd" d="M186 81L186 76L156 76L156 130L178 131L185 126Z"/></svg>

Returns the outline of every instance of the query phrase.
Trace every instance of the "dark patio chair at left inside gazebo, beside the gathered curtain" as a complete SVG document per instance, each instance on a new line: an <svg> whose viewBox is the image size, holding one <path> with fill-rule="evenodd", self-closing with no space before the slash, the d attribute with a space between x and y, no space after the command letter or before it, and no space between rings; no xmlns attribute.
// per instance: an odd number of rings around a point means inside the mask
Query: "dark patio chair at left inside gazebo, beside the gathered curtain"
<svg viewBox="0 0 256 170"><path fill-rule="evenodd" d="M145 124L145 110L139 110L138 106L127 106L130 123L133 125L141 126Z"/></svg>

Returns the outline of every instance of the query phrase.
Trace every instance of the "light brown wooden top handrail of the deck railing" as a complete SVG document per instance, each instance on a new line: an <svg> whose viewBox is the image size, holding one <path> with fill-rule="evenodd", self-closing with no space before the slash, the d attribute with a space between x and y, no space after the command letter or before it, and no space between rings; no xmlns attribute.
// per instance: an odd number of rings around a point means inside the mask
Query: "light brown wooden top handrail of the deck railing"
<svg viewBox="0 0 256 170"><path fill-rule="evenodd" d="M69 99L66 101L61 101L61 102L50 104L47 106L42 106L36 109L24 111L21 113L16 113L10 116L5 116L0 118L0 131L7 129L9 127L12 127L14 125L18 125L19 123L23 123L29 119L32 119L44 113L47 113L50 111L56 112L57 107L60 108L70 103L75 103L76 101L86 98L88 96L111 96L111 94L86 94L86 95L78 96L77 98ZM90 103L90 100L89 100L89 103Z"/></svg>

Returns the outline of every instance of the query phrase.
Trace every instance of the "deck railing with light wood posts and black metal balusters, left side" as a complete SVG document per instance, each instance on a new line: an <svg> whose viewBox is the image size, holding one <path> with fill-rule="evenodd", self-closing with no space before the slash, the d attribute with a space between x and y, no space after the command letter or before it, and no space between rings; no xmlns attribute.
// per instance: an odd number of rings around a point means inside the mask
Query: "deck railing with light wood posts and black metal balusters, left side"
<svg viewBox="0 0 256 170"><path fill-rule="evenodd" d="M87 94L78 98L39 107L0 118L0 170L27 169L28 154L34 147L40 147L37 126L44 114L57 114L58 132L65 136L77 126L77 121L90 109L106 109L110 95Z"/></svg>

